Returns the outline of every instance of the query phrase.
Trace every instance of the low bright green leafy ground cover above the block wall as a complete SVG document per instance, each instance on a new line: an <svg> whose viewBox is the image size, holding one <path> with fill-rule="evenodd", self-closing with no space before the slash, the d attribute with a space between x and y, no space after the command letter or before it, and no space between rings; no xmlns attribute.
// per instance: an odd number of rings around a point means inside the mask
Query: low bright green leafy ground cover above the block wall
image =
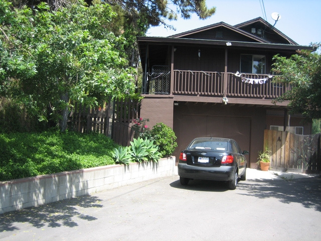
<svg viewBox="0 0 321 241"><path fill-rule="evenodd" d="M118 147L102 134L0 134L0 181L114 164Z"/></svg>

